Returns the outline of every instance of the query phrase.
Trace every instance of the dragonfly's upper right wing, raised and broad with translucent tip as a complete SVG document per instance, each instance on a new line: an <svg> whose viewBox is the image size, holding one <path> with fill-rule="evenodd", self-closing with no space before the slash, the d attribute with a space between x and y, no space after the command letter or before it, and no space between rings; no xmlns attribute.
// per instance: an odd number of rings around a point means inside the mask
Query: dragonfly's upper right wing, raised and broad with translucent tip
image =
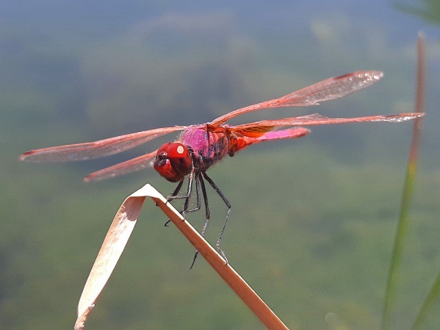
<svg viewBox="0 0 440 330"><path fill-rule="evenodd" d="M352 72L351 74L344 74L344 76L329 78L320 83L300 89L299 91L294 91L292 94L281 98L261 102L226 113L210 122L210 126L219 126L231 118L234 118L236 115L241 115L245 112L267 108L316 105L319 104L319 102L342 98L343 96L377 83L383 76L384 74L378 71L358 71Z"/></svg>

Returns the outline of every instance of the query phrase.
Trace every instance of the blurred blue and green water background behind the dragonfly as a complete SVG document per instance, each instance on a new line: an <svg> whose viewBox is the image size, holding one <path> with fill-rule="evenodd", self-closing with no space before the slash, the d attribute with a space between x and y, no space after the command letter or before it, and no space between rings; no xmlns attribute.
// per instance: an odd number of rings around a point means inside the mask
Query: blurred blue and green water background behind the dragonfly
<svg viewBox="0 0 440 330"><path fill-rule="evenodd" d="M423 29L428 115L393 312L395 329L409 329L440 270L439 29L423 13L434 16L435 1L1 1L0 328L72 329L120 203L146 182L175 188L153 170L82 181L172 135L93 162L21 163L21 153L208 122L359 69L385 78L320 107L234 122L410 112ZM291 329L378 329L411 129L315 126L210 169L232 202L223 250ZM209 195L215 243L225 206ZM188 220L201 228L203 212ZM86 328L263 329L202 258L188 269L193 248L165 221L147 201Z"/></svg>

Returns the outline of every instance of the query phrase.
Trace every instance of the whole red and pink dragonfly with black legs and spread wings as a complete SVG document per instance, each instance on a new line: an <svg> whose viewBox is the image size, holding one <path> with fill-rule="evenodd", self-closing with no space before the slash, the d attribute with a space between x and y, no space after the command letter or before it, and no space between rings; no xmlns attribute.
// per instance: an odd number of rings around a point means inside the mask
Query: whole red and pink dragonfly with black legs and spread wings
<svg viewBox="0 0 440 330"><path fill-rule="evenodd" d="M383 73L378 71L352 72L343 76L322 80L320 83L294 91L281 98L236 109L206 124L164 127L110 137L96 142L41 148L23 153L20 159L34 162L69 162L94 159L121 153L162 135L181 131L179 137L177 137L174 142L168 142L157 150L141 155L140 157L91 173L85 177L85 181L107 179L135 170L153 167L162 177L170 182L177 183L177 187L172 195L168 196L168 201L184 199L184 207L181 211L182 215L185 216L188 212L200 210L201 197L203 197L206 216L203 227L201 228L201 235L203 236L206 233L210 220L206 180L221 199L223 199L223 202L228 208L219 239L216 243L217 250L219 250L223 256L225 263L228 263L228 259L226 259L224 252L220 248L220 241L223 237L228 219L230 218L231 203L217 184L206 174L208 168L217 164L228 155L230 157L234 156L235 153L247 148L251 144L270 140L303 137L309 133L309 129L303 126L344 124L350 122L398 123L419 118L423 113L371 115L358 118L328 118L315 113L278 120L261 120L234 126L230 126L226 124L226 122L237 115L250 111L280 107L312 106L327 100L342 98L343 96L347 96L348 94L377 83L382 77ZM179 195L186 177L188 177L186 192L182 192L183 195ZM195 186L195 193L193 192L193 186ZM196 203L191 206L191 198L193 195L195 195ZM197 252L195 254L195 258L196 257ZM192 264L194 264L194 261Z"/></svg>

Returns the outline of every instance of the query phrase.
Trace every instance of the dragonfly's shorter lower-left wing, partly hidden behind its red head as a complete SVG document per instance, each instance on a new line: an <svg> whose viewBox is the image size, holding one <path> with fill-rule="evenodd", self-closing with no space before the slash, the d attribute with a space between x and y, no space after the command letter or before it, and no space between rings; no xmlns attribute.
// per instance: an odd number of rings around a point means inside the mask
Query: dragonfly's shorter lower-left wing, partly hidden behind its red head
<svg viewBox="0 0 440 330"><path fill-rule="evenodd" d="M152 153L147 153L146 155L127 160L126 162L103 168L102 170L98 170L94 173L87 175L87 177L85 177L84 179L85 181L109 179L111 177L131 173L136 170L149 168L152 166L151 159L155 157L156 153L157 150L153 151Z"/></svg>

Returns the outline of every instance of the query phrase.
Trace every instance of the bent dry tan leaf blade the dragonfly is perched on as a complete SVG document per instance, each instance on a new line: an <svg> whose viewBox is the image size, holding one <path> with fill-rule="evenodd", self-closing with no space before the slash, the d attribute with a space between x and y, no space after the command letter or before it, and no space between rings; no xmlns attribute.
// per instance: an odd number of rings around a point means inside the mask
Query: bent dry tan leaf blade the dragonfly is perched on
<svg viewBox="0 0 440 330"><path fill-rule="evenodd" d="M254 312L267 329L288 329L274 312L264 303L254 290L245 283L230 264L225 264L221 255L203 239L203 237L186 221L175 208L166 201L153 186L146 184L127 197L115 215L115 219L105 236L100 252L90 271L89 278L78 303L78 318L75 329L83 329L85 321L93 309L104 285L107 283L118 262L126 242L133 231L137 217L146 197L153 199L155 204L166 214L186 239L208 261L214 270L243 300L243 303Z"/></svg>

